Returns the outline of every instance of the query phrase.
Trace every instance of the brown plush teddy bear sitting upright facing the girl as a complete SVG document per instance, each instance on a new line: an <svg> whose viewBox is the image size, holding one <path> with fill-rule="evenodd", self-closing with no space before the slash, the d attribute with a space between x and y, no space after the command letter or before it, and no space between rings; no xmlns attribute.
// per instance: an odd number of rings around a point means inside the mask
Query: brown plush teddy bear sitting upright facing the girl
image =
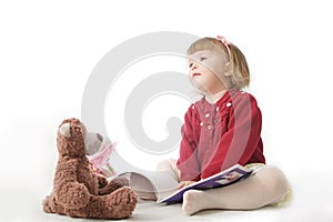
<svg viewBox="0 0 333 222"><path fill-rule="evenodd" d="M78 119L64 120L58 129L59 160L53 190L43 201L47 213L73 218L125 219L137 205L128 180L108 181L95 174L84 151L85 127Z"/></svg>

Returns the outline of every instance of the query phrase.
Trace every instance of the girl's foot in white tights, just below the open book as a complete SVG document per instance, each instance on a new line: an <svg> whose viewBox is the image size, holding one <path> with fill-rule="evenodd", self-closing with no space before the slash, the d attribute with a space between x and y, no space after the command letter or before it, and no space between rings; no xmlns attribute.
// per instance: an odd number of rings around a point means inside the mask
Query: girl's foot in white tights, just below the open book
<svg viewBox="0 0 333 222"><path fill-rule="evenodd" d="M204 210L204 192L198 190L189 190L183 194L182 210L186 215L192 215Z"/></svg>

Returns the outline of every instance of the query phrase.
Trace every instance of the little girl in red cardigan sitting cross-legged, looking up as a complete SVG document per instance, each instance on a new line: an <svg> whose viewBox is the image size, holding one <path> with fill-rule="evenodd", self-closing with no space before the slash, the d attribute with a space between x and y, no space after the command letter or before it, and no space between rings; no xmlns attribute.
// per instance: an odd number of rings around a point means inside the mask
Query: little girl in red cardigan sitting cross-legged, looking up
<svg viewBox="0 0 333 222"><path fill-rule="evenodd" d="M262 115L255 98L242 91L250 72L241 50L223 37L202 38L188 49L189 79L203 97L184 115L180 155L158 170L171 169L179 189L240 163L255 173L226 188L183 194L182 210L192 215L208 209L252 210L286 202L289 183L265 164Z"/></svg>

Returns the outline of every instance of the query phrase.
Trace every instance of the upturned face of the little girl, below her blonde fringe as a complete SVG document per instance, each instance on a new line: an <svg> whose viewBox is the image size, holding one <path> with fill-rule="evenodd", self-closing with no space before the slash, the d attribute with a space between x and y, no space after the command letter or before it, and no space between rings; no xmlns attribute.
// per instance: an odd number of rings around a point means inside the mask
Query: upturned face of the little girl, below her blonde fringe
<svg viewBox="0 0 333 222"><path fill-rule="evenodd" d="M196 51L189 57L189 78L199 91L215 94L226 89L224 73L228 56L222 50Z"/></svg>

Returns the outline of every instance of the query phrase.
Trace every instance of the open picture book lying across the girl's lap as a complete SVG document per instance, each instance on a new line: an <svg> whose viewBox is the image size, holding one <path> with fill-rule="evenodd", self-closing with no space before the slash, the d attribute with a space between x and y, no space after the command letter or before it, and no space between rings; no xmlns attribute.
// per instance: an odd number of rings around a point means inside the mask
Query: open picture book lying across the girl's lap
<svg viewBox="0 0 333 222"><path fill-rule="evenodd" d="M158 203L182 202L183 193L188 190L206 190L222 188L244 180L251 175L253 170L235 164L220 173L198 181L191 185L178 190L179 182L167 171L152 171L144 174L128 172L119 176L125 176L130 181L130 186L142 200L154 200Z"/></svg>

